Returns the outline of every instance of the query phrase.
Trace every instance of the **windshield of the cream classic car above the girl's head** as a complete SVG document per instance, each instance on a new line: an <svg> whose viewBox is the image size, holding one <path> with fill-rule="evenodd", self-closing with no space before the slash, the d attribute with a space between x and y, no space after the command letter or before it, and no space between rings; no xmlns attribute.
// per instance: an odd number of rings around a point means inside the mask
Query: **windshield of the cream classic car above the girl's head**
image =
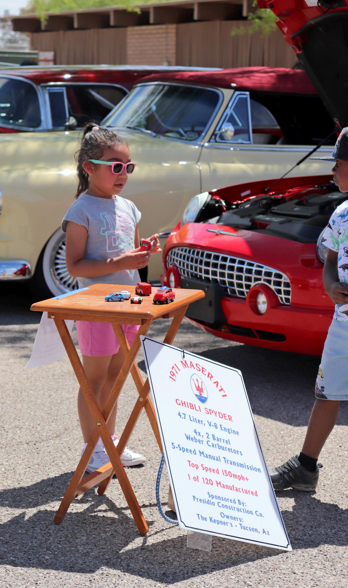
<svg viewBox="0 0 348 588"><path fill-rule="evenodd" d="M162 83L139 85L105 124L196 141L203 135L219 102L220 93L208 88Z"/></svg>

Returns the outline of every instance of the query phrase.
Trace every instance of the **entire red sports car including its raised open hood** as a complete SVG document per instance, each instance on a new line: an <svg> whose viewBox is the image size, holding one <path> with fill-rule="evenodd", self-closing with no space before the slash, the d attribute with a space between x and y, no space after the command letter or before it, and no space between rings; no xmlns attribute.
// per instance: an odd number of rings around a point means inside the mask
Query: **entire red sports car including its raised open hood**
<svg viewBox="0 0 348 588"><path fill-rule="evenodd" d="M277 25L337 128L348 126L346 1L258 2L278 16ZM203 330L249 345L320 355L334 309L322 282L322 235L347 199L332 175L275 178L199 194L165 245L162 283L205 290L187 313Z"/></svg>

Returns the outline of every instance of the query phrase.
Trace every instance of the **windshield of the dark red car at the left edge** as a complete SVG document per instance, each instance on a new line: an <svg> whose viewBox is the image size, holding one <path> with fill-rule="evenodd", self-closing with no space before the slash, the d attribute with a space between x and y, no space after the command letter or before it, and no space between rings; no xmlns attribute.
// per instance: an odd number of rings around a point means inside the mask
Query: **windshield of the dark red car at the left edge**
<svg viewBox="0 0 348 588"><path fill-rule="evenodd" d="M0 78L0 125L36 128L41 124L38 93L31 83Z"/></svg>

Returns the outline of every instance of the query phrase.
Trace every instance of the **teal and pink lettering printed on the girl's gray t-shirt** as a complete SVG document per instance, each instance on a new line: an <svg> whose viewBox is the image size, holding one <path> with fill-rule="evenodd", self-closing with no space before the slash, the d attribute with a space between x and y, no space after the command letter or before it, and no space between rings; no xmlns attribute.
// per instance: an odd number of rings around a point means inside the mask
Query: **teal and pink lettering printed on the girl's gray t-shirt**
<svg viewBox="0 0 348 588"><path fill-rule="evenodd" d="M107 212L100 212L103 220L101 235L106 238L106 251L113 253L125 253L133 249L134 235L131 219L126 214L108 215Z"/></svg>

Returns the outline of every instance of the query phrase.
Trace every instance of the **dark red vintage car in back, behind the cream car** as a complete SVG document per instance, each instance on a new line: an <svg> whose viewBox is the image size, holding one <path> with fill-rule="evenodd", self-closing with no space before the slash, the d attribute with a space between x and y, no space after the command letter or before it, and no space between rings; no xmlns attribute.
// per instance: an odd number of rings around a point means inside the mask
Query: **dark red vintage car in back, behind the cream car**
<svg viewBox="0 0 348 588"><path fill-rule="evenodd" d="M0 71L0 133L63 131L101 122L140 79L178 68L18 67ZM185 69L185 68L183 68Z"/></svg>

